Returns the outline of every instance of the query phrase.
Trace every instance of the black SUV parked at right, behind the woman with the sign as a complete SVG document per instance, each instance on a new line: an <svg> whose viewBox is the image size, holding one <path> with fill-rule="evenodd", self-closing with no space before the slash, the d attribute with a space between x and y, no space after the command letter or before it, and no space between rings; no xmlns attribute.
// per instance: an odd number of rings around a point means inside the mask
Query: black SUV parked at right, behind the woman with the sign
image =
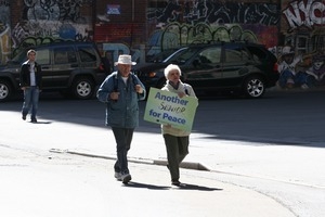
<svg viewBox="0 0 325 217"><path fill-rule="evenodd" d="M161 88L165 67L178 64L182 80L196 92L237 93L261 98L278 79L277 60L264 46L248 42L213 42L181 48L156 63L139 64L134 74L147 89Z"/></svg>

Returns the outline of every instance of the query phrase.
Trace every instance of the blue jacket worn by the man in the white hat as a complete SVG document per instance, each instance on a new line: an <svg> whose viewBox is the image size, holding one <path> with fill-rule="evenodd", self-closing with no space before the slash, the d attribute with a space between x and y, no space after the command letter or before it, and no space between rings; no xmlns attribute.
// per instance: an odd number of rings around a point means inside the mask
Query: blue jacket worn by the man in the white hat
<svg viewBox="0 0 325 217"><path fill-rule="evenodd" d="M141 85L143 93L135 92L134 86ZM115 90L117 89L117 90ZM118 100L109 99L110 92L119 92ZM145 87L130 73L127 84L119 73L114 72L100 86L96 97L106 103L106 126L135 128L139 126L139 100L145 99Z"/></svg>

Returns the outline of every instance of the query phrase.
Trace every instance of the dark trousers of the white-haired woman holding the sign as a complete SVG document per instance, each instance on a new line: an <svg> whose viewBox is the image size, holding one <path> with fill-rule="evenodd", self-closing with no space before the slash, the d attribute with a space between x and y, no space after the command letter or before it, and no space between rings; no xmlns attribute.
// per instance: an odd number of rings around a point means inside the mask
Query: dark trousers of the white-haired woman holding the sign
<svg viewBox="0 0 325 217"><path fill-rule="evenodd" d="M164 135L164 139L171 180L176 181L180 178L180 164L188 154L188 136L174 137Z"/></svg>

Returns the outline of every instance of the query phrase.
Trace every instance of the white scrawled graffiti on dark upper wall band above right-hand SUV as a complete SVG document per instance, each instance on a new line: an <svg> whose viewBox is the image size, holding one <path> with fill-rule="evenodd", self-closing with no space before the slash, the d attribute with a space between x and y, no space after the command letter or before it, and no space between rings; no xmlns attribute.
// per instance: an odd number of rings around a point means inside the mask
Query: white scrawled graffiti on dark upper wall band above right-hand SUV
<svg viewBox="0 0 325 217"><path fill-rule="evenodd" d="M263 24L276 25L280 21L276 4L220 3L212 0L187 1L184 5L169 1L165 9L150 9L147 20L158 23L185 22L209 24Z"/></svg>

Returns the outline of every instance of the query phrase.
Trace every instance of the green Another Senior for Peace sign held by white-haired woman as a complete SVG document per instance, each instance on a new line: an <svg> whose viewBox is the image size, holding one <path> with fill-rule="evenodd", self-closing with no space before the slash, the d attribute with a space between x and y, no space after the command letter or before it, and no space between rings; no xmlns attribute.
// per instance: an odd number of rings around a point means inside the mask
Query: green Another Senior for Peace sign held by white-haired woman
<svg viewBox="0 0 325 217"><path fill-rule="evenodd" d="M176 128L191 131L197 105L196 98L180 98L177 93L151 88L144 120L170 124Z"/></svg>

